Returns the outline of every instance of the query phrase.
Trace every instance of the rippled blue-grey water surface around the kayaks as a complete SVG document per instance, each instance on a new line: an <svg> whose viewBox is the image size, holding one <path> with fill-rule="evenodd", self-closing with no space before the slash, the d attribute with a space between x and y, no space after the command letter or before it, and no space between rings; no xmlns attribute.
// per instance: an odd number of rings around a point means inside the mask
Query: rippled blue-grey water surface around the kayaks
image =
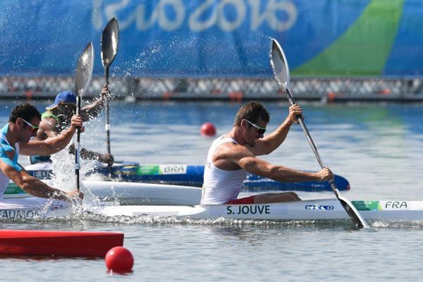
<svg viewBox="0 0 423 282"><path fill-rule="evenodd" d="M287 103L265 103L269 129L287 114ZM37 104L40 110L47 104ZM1 102L6 123L12 103ZM200 136L212 121L230 130L240 104L112 104L111 149L116 159L143 164L204 164L212 139ZM303 104L305 122L327 166L350 180L350 200L423 200L422 105ZM105 151L104 119L87 123L81 138ZM299 125L264 157L315 171L318 164ZM21 159L25 164L25 159ZM70 165L72 167L72 165ZM70 173L71 175L73 173ZM333 197L300 192L302 198ZM423 223L372 222L355 231L349 221L180 221L95 219L0 222L0 228L121 231L135 257L132 274L110 276L103 259L0 257L2 281L410 281L419 280Z"/></svg>

